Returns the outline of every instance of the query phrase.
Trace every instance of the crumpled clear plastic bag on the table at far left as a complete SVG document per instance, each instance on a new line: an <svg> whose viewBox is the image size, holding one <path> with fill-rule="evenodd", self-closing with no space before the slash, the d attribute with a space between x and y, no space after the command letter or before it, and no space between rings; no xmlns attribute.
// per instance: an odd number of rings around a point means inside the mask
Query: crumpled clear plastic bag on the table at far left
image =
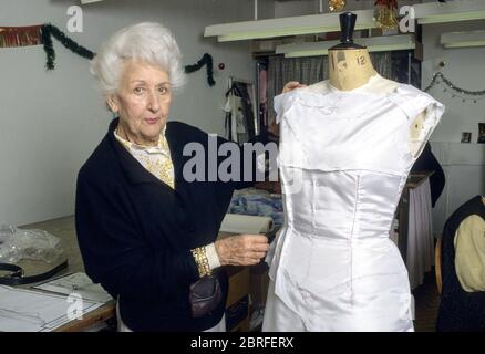
<svg viewBox="0 0 485 354"><path fill-rule="evenodd" d="M61 240L44 230L0 227L0 262L17 263L29 259L53 263L62 254Z"/></svg>

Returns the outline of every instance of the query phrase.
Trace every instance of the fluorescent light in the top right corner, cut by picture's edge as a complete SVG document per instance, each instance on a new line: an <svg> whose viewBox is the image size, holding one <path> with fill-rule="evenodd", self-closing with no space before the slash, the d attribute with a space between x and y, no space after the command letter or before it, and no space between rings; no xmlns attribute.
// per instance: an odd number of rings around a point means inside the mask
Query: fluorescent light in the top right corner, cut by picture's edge
<svg viewBox="0 0 485 354"><path fill-rule="evenodd" d="M419 24L485 19L485 1L460 0L412 6Z"/></svg>

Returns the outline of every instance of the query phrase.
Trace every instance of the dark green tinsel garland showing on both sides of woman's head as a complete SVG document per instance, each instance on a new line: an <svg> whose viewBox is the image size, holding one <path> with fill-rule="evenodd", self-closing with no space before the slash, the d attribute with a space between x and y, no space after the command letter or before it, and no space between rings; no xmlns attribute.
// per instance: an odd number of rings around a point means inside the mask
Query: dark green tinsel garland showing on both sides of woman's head
<svg viewBox="0 0 485 354"><path fill-rule="evenodd" d="M71 52L81 55L82 58L92 60L94 55L96 55L89 49L85 49L84 46L81 46L76 42L71 40L55 25L44 24L42 25L42 44L44 46L47 55L45 66L48 70L53 70L55 67L55 51L52 43L52 37L61 42L61 44L69 49ZM216 82L214 81L214 64L213 56L210 54L205 53L197 63L195 63L194 65L185 66L185 72L187 74L190 74L195 71L200 70L204 65L207 66L207 83L209 84L209 86L214 86Z"/></svg>

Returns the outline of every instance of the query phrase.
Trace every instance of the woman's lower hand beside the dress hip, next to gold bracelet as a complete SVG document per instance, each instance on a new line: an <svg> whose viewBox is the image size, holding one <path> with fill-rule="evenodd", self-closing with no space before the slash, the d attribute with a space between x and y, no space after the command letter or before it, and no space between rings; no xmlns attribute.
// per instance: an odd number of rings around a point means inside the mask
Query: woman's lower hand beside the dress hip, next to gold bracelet
<svg viewBox="0 0 485 354"><path fill-rule="evenodd" d="M215 242L221 266L258 264L269 249L264 235L236 235Z"/></svg>

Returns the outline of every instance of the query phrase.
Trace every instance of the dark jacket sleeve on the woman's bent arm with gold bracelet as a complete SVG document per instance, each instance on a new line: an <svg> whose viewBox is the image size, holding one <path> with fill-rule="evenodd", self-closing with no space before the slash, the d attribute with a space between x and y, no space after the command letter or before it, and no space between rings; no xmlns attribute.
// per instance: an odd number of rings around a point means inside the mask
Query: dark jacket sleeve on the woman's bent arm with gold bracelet
<svg viewBox="0 0 485 354"><path fill-rule="evenodd" d="M113 298L161 301L185 296L198 279L190 250L151 248L116 186L96 186L82 173L78 177L75 226L86 273Z"/></svg>

